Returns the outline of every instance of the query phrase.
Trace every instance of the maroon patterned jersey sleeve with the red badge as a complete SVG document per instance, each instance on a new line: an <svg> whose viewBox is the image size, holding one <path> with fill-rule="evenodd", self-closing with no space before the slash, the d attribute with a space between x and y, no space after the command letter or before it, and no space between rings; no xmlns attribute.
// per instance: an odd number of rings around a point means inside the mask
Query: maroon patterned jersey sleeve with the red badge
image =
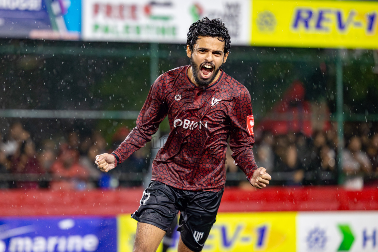
<svg viewBox="0 0 378 252"><path fill-rule="evenodd" d="M253 135L253 114L251 96L248 90L244 89L239 96L235 97L231 110L231 135L230 148L232 158L243 170L248 180L252 177L257 165L253 156L252 146Z"/></svg>

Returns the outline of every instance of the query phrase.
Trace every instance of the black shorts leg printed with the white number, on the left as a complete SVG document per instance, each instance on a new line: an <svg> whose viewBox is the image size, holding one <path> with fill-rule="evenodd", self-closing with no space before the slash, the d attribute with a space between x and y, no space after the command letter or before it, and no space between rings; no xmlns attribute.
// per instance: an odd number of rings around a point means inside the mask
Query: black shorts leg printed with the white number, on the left
<svg viewBox="0 0 378 252"><path fill-rule="evenodd" d="M138 210L131 217L167 231L177 213L177 194L174 189L152 181L143 192Z"/></svg>

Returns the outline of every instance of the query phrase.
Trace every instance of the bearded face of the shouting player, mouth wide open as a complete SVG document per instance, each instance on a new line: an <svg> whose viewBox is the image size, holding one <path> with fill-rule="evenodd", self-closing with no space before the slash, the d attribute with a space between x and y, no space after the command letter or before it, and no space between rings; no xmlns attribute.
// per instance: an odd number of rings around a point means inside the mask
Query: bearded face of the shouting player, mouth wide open
<svg viewBox="0 0 378 252"><path fill-rule="evenodd" d="M217 37L199 36L193 51L186 46L186 54L191 58L192 73L195 82L199 87L206 87L211 84L215 77L218 77L219 69L226 62L228 52L223 50L225 42Z"/></svg>

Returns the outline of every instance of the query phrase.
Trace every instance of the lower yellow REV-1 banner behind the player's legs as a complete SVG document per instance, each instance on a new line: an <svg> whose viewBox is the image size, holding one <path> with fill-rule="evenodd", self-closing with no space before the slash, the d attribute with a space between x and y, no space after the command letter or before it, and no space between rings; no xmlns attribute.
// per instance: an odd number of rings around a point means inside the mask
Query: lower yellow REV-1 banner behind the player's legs
<svg viewBox="0 0 378 252"><path fill-rule="evenodd" d="M203 252L296 251L296 212L218 213ZM118 251L132 251L136 221L118 216ZM179 233L167 252L177 252ZM161 251L162 246L158 251Z"/></svg>

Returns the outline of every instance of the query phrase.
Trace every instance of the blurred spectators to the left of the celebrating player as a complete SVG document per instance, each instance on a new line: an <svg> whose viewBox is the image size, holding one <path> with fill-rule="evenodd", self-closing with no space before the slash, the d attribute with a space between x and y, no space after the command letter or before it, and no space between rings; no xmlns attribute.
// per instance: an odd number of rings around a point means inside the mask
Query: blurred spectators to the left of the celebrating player
<svg viewBox="0 0 378 252"><path fill-rule="evenodd" d="M110 146L98 131L90 136L71 131L59 141L46 139L36 146L30 132L20 122L13 122L5 137L0 136L0 188L89 190L140 186L142 179L138 178L142 176L138 175L148 170L145 148L109 173L100 172L94 163L96 155L111 153L128 133L127 128L118 130Z"/></svg>

